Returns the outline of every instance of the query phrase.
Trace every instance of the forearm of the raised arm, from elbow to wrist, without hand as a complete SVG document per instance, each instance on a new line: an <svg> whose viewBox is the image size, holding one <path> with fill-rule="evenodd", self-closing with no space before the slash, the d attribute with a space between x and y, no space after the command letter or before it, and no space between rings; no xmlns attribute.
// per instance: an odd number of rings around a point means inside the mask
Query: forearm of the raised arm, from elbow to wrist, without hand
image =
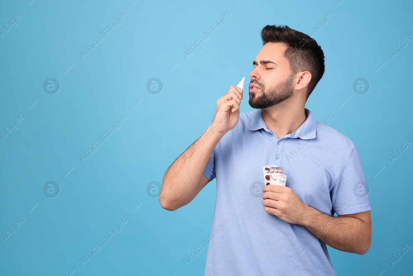
<svg viewBox="0 0 413 276"><path fill-rule="evenodd" d="M223 134L215 123L166 170L159 201L172 210L188 204L197 188L209 157Z"/></svg>

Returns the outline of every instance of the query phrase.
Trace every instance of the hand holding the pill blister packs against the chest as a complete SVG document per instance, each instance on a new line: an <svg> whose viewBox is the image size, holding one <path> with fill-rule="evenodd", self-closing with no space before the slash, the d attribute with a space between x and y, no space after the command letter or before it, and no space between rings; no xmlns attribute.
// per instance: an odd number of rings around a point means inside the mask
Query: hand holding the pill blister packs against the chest
<svg viewBox="0 0 413 276"><path fill-rule="evenodd" d="M273 184L266 185L262 191L262 205L267 213L294 224L301 224L306 217L309 206L302 202L290 187Z"/></svg>

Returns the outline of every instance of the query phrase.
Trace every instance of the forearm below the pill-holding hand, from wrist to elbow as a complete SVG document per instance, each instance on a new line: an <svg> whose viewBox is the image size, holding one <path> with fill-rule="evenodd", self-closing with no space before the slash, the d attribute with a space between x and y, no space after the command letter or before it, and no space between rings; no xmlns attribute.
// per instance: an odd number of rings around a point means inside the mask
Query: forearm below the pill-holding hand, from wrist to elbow
<svg viewBox="0 0 413 276"><path fill-rule="evenodd" d="M370 247L371 228L354 217L334 217L310 206L299 223L331 247L364 254Z"/></svg>

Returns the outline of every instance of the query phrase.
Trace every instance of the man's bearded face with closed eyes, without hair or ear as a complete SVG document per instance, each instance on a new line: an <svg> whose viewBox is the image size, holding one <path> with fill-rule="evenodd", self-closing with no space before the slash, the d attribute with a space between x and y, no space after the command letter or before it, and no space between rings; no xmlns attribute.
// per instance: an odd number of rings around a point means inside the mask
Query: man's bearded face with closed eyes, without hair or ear
<svg viewBox="0 0 413 276"><path fill-rule="evenodd" d="M293 96L290 62L283 56L287 46L282 43L266 43L249 73L249 105L252 108L275 106Z"/></svg>

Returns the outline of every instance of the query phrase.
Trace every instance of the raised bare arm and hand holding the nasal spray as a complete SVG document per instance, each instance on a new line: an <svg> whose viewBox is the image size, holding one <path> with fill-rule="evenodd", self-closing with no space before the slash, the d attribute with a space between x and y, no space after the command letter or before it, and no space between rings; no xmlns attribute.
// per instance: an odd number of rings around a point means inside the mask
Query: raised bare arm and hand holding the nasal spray
<svg viewBox="0 0 413 276"><path fill-rule="evenodd" d="M242 89L231 85L216 101L212 124L186 151L169 166L162 180L159 203L174 211L189 202L209 181L202 174L216 145L240 118Z"/></svg>

